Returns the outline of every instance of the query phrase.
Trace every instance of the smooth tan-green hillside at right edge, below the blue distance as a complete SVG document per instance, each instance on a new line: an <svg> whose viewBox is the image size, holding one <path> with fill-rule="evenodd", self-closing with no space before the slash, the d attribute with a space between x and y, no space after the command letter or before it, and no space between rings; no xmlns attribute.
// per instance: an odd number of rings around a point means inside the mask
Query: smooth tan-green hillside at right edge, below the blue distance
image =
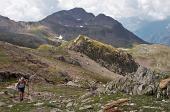
<svg viewBox="0 0 170 112"><path fill-rule="evenodd" d="M135 60L147 68L170 72L170 47L164 45L137 45L129 50Z"/></svg>

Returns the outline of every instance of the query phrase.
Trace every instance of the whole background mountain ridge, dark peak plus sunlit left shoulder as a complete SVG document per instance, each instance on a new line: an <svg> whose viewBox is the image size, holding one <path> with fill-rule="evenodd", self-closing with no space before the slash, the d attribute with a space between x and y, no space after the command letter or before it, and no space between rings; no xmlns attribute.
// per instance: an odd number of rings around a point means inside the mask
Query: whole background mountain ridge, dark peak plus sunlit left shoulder
<svg viewBox="0 0 170 112"><path fill-rule="evenodd" d="M58 45L58 42L61 42L58 38L69 41L80 34L115 47L131 47L134 44L146 43L113 18L104 14L94 16L82 8L59 11L38 22L15 22L1 16L0 31L3 33L0 35L0 40L9 43L12 38L21 34L24 38L23 41L25 39L32 41L35 38L35 41L38 41L36 45L32 45L33 48L42 44L53 43L52 45L54 45L55 42ZM15 40L18 39L13 39L13 41ZM24 42L27 44L27 41ZM18 42L11 43L17 45ZM26 45L26 47L28 46L30 45Z"/></svg>

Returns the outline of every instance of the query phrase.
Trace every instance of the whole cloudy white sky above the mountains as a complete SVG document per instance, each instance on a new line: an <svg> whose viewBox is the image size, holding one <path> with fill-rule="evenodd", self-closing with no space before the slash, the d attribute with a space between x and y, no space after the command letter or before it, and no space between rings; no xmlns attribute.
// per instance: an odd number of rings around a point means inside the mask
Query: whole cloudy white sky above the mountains
<svg viewBox="0 0 170 112"><path fill-rule="evenodd" d="M117 20L129 17L163 20L170 16L170 0L0 0L0 15L16 21L38 21L75 7Z"/></svg>

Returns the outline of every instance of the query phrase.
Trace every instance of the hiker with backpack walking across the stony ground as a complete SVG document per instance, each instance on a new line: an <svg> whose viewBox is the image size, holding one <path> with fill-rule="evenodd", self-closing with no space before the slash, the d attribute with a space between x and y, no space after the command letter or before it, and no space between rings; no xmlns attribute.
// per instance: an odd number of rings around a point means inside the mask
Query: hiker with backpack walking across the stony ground
<svg viewBox="0 0 170 112"><path fill-rule="evenodd" d="M21 77L17 84L17 89L19 91L20 101L24 99L25 87L28 86L27 80L24 77Z"/></svg>

